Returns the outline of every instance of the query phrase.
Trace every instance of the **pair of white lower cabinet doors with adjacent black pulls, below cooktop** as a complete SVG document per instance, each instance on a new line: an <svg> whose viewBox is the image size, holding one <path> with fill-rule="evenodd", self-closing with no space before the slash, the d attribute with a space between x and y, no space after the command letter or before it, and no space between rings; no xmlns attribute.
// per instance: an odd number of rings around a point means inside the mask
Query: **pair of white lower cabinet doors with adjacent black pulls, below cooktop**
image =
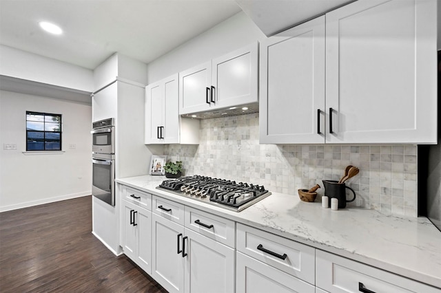
<svg viewBox="0 0 441 293"><path fill-rule="evenodd" d="M156 213L152 224L152 277L167 291L234 292L234 248Z"/></svg>

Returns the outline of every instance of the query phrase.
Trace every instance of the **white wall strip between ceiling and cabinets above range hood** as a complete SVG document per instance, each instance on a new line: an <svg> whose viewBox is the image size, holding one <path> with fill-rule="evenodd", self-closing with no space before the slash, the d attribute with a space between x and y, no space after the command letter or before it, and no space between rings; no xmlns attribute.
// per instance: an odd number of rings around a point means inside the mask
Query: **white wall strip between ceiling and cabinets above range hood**
<svg viewBox="0 0 441 293"><path fill-rule="evenodd" d="M181 72L262 39L267 39L267 36L244 12L239 12L177 47L172 52L149 63L147 65L147 81L154 83L176 74L176 72Z"/></svg>

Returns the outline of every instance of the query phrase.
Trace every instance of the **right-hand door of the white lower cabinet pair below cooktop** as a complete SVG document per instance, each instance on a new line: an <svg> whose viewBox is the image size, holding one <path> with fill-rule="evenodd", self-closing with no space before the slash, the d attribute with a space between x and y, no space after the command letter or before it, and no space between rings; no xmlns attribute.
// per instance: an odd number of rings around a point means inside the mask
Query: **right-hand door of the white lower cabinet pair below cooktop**
<svg viewBox="0 0 441 293"><path fill-rule="evenodd" d="M185 228L185 292L234 292L234 249Z"/></svg>

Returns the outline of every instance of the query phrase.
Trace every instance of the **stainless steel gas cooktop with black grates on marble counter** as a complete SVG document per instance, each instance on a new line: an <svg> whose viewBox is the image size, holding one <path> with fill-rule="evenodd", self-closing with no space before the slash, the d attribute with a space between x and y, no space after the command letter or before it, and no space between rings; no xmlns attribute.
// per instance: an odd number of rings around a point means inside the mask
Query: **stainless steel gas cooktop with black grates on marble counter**
<svg viewBox="0 0 441 293"><path fill-rule="evenodd" d="M201 175L164 180L156 188L235 212L240 212L271 194L264 186Z"/></svg>

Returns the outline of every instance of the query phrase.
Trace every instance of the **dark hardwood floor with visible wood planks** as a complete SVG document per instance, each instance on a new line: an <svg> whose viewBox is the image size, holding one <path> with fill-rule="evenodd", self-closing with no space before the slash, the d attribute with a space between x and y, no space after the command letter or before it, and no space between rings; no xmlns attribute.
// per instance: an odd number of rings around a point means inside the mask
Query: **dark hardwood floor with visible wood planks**
<svg viewBox="0 0 441 293"><path fill-rule="evenodd" d="M91 231L90 196L0 213L0 292L167 292Z"/></svg>

